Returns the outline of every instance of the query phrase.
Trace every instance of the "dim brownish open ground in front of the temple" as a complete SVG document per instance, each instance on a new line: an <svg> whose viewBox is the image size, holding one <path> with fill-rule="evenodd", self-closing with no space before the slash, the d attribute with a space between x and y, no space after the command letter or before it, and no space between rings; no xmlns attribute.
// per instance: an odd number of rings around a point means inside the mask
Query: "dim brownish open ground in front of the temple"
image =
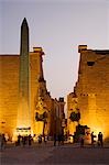
<svg viewBox="0 0 109 165"><path fill-rule="evenodd" d="M53 143L32 146L7 146L0 152L0 165L109 165L109 147Z"/></svg>

